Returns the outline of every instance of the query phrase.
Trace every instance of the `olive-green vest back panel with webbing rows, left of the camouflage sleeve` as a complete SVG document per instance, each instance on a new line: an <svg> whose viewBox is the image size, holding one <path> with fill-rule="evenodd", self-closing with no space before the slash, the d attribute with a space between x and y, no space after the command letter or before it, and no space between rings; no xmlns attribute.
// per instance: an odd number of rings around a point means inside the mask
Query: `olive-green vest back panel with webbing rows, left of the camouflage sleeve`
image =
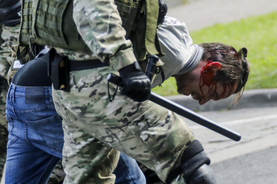
<svg viewBox="0 0 277 184"><path fill-rule="evenodd" d="M23 0L22 12L20 45L31 41L64 49L88 49L72 17L73 1Z"/></svg>

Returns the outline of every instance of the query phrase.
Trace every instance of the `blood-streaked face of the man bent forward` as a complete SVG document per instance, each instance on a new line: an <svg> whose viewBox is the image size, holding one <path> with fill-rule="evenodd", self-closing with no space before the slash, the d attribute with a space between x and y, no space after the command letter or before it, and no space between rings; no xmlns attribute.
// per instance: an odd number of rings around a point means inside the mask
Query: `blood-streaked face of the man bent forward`
<svg viewBox="0 0 277 184"><path fill-rule="evenodd" d="M204 67L203 67L204 68ZM204 72L205 71L205 72ZM209 100L220 100L231 96L238 83L222 85L214 81L216 70L192 70L183 75L176 75L177 91L186 96L191 95L200 105Z"/></svg>

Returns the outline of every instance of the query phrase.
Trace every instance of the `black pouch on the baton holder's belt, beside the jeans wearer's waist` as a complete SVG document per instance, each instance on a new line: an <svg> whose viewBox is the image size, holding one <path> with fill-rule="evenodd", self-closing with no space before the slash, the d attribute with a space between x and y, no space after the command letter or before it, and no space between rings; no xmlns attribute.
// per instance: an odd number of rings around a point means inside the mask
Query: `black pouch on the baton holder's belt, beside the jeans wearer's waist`
<svg viewBox="0 0 277 184"><path fill-rule="evenodd" d="M51 62L51 79L55 90L69 92L68 57L56 54Z"/></svg>

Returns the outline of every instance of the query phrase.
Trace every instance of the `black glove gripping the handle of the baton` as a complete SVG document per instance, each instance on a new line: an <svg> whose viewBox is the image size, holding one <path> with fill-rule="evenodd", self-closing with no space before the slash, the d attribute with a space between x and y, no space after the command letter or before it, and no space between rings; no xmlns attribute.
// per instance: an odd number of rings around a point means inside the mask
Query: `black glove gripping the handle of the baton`
<svg viewBox="0 0 277 184"><path fill-rule="evenodd" d="M119 75L123 85L121 94L128 96L136 102L143 102L150 98L150 79L141 71L137 61L121 68Z"/></svg>

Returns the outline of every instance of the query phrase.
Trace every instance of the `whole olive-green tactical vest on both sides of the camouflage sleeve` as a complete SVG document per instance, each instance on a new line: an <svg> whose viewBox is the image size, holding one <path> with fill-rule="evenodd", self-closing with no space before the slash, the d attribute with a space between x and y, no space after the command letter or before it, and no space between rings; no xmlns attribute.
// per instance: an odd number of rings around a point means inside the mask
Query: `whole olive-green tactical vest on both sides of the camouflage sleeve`
<svg viewBox="0 0 277 184"><path fill-rule="evenodd" d="M158 0L115 0L115 5L137 60L145 59L147 52L162 56L156 34ZM28 45L31 41L64 49L89 50L78 34L72 14L73 0L23 0L19 45Z"/></svg>

